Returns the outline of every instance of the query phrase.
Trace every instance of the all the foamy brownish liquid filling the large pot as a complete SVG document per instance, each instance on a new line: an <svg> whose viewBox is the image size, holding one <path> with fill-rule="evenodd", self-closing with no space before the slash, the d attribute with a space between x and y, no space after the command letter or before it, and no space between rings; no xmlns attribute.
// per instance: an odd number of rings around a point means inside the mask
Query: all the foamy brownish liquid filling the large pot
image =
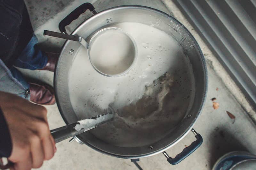
<svg viewBox="0 0 256 170"><path fill-rule="evenodd" d="M86 49L80 48L68 77L71 104L78 119L99 115L109 105L115 108L114 121L91 130L101 140L125 147L151 144L189 111L195 89L192 67L167 33L140 23L114 27L136 42L136 62L125 75L110 78L94 70Z"/></svg>

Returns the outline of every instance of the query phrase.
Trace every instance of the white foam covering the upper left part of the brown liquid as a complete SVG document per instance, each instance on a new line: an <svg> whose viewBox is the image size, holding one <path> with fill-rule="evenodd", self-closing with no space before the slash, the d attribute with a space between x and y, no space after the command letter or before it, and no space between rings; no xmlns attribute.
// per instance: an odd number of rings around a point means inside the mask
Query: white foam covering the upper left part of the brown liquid
<svg viewBox="0 0 256 170"><path fill-rule="evenodd" d="M177 57L174 56L184 55L174 39L154 27L140 23L120 23L115 27L123 29L136 41L137 62L124 76L109 78L92 68L86 50L80 48L69 76L71 102L78 114L88 109L84 104L87 107L99 105L101 109L106 109L112 102L119 108L139 100L145 92L145 87L176 63ZM148 48L145 48L146 43ZM165 49L160 49L159 44ZM150 60L148 55L151 57Z"/></svg>

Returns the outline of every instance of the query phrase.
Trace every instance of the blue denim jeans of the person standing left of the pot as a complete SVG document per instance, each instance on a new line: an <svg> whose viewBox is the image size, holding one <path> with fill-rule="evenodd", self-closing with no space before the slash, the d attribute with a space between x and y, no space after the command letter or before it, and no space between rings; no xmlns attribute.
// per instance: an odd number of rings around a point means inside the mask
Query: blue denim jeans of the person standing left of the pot
<svg viewBox="0 0 256 170"><path fill-rule="evenodd" d="M14 66L23 69L36 70L42 69L46 65L47 56L36 46L38 40L35 35L31 38L26 48L21 52ZM16 78L25 88L29 89L29 84L22 73L15 67L10 68L12 76Z"/></svg>

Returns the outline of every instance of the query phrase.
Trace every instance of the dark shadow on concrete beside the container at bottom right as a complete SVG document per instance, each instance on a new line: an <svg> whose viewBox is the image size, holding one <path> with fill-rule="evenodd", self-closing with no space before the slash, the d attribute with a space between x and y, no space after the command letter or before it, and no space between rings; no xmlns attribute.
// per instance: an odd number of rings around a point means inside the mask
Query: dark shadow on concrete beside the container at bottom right
<svg viewBox="0 0 256 170"><path fill-rule="evenodd" d="M211 132L211 142L209 144L209 152L211 158L209 166L212 168L215 162L224 154L232 151L248 151L240 141L238 141L234 134L229 132L226 127L216 127Z"/></svg>

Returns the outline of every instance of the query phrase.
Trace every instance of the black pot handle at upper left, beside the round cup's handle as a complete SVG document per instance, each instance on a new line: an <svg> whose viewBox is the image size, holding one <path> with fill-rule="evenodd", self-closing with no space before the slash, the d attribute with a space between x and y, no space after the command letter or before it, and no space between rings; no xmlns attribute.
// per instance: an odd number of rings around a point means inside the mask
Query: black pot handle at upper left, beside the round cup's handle
<svg viewBox="0 0 256 170"><path fill-rule="evenodd" d="M97 12L94 10L92 4L90 3L84 3L77 7L74 11L72 11L70 14L68 14L67 17L62 19L59 24L59 29L61 33L67 33L65 26L68 26L72 21L76 20L82 13L84 13L86 10L92 11L93 14L96 14Z"/></svg>

